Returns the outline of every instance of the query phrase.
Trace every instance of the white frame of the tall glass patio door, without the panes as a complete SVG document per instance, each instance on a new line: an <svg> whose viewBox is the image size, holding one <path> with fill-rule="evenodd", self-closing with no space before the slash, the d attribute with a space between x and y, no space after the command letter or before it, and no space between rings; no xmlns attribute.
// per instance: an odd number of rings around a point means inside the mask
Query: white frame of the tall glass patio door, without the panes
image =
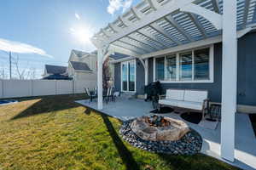
<svg viewBox="0 0 256 170"><path fill-rule="evenodd" d="M130 91L129 90L129 69L128 69L128 64L129 63L134 63L134 71L135 71L135 74L134 74L134 77L135 77L135 81L134 81L134 91ZM123 90L123 64L127 65L127 90ZM120 82L121 82L121 92L125 92L125 93L136 93L137 89L137 62L136 62L136 59L131 59L131 60L126 60L126 61L122 61L120 63L120 70L121 70L121 75L120 75Z"/></svg>

